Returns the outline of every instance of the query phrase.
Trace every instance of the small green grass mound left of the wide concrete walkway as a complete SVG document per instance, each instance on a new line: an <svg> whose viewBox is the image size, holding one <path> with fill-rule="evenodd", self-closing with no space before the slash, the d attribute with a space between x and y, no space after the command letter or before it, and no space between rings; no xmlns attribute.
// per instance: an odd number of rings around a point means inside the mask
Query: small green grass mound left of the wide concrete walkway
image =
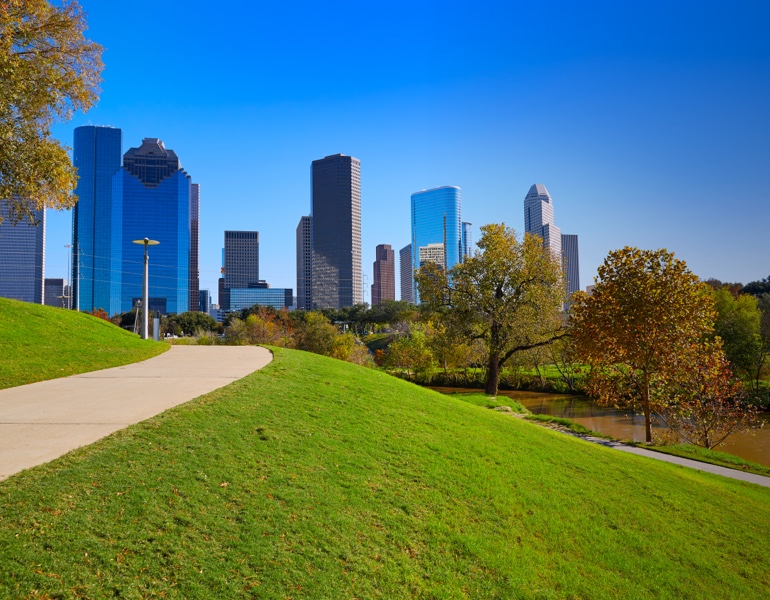
<svg viewBox="0 0 770 600"><path fill-rule="evenodd" d="M0 389L117 367L167 349L90 315L0 298Z"/></svg>

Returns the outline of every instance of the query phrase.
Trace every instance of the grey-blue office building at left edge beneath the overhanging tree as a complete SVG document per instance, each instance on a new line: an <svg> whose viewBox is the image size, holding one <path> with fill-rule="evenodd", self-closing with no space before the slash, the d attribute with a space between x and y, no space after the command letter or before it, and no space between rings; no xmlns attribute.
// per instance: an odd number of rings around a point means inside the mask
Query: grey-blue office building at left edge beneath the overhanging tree
<svg viewBox="0 0 770 600"><path fill-rule="evenodd" d="M0 297L43 303L45 210L12 223L0 202Z"/></svg>

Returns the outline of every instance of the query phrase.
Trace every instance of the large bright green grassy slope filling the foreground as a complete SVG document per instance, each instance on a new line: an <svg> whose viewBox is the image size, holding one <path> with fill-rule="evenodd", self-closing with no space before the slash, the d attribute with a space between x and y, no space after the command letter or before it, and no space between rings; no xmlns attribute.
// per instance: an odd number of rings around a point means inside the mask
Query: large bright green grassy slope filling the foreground
<svg viewBox="0 0 770 600"><path fill-rule="evenodd" d="M770 489L275 352L0 483L0 597L767 594Z"/></svg>

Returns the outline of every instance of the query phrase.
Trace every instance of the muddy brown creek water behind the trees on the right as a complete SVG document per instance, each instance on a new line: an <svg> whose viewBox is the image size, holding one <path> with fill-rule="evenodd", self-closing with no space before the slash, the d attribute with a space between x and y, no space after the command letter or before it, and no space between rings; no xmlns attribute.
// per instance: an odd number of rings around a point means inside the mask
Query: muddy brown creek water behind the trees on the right
<svg viewBox="0 0 770 600"><path fill-rule="evenodd" d="M442 394L467 394L479 391L453 387L433 387L431 389ZM504 390L500 390L498 394L517 400L527 410L535 414L564 417L575 423L580 423L592 431L598 431L619 440L644 441L644 416L598 406L585 396ZM770 419L766 415L763 416L763 419L766 423L765 427L750 433L733 434L727 438L725 445L720 446L717 450L729 452L745 460L770 467ZM657 423L653 425L653 428L663 430L663 426Z"/></svg>

